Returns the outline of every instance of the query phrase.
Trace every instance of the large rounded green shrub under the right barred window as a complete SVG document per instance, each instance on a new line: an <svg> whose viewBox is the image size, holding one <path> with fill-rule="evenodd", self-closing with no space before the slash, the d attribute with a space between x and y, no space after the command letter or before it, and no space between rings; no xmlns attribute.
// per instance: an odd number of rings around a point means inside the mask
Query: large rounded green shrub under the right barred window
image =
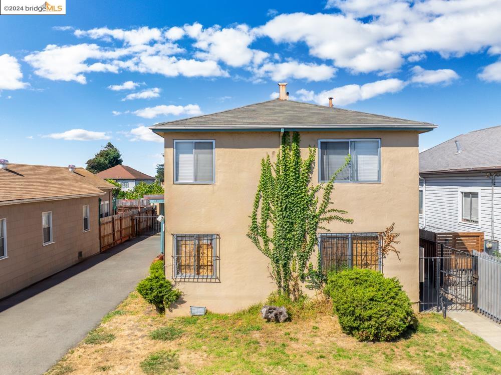
<svg viewBox="0 0 501 375"><path fill-rule="evenodd" d="M347 269L329 275L325 287L343 331L361 341L398 337L415 317L396 278L369 269Z"/></svg>

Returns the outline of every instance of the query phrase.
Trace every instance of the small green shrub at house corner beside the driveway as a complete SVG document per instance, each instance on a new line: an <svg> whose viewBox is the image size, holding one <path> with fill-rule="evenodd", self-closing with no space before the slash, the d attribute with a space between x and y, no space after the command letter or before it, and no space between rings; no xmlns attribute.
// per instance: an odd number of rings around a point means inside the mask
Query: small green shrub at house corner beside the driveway
<svg viewBox="0 0 501 375"><path fill-rule="evenodd" d="M181 291L174 289L172 283L165 278L161 260L151 264L150 275L137 284L136 290L155 306L158 313L165 312L165 307L181 296Z"/></svg>

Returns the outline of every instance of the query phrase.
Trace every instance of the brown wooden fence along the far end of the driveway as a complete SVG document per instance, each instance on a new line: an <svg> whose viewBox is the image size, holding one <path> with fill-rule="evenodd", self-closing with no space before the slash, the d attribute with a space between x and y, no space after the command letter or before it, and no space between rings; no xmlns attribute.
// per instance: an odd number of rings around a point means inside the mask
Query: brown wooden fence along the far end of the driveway
<svg viewBox="0 0 501 375"><path fill-rule="evenodd" d="M107 250L110 247L116 246L119 243L127 241L142 233L148 228L148 219L143 217L152 217L155 215L155 208L152 206L141 208L140 211L130 210L128 212L119 213L112 216L101 218L99 226L99 238L101 251ZM139 225L136 226L137 217Z"/></svg>

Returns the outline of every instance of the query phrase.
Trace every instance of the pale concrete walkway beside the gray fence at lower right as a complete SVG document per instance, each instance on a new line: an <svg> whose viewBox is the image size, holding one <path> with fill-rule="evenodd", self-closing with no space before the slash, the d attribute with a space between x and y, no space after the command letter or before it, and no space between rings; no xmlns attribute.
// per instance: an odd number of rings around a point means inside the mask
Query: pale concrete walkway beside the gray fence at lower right
<svg viewBox="0 0 501 375"><path fill-rule="evenodd" d="M501 325L473 311L450 311L447 316L483 338L493 348L501 350Z"/></svg>

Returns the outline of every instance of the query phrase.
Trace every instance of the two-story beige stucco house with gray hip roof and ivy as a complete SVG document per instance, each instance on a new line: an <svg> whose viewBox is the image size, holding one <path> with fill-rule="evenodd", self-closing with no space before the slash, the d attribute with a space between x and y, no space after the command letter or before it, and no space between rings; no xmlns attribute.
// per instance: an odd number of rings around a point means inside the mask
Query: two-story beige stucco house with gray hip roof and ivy
<svg viewBox="0 0 501 375"><path fill-rule="evenodd" d="M276 157L284 131L300 132L305 157L309 145L320 149L314 184L328 180L348 153L353 158L332 200L354 223L332 222L331 234L320 230L323 259L332 264L351 251L355 260L395 222L401 260L390 254L384 273L398 276L417 302L418 142L436 126L290 101L279 86L277 100L150 127L165 139L165 272L186 301L176 311L235 311L276 289L269 259L246 233L261 160Z"/></svg>

